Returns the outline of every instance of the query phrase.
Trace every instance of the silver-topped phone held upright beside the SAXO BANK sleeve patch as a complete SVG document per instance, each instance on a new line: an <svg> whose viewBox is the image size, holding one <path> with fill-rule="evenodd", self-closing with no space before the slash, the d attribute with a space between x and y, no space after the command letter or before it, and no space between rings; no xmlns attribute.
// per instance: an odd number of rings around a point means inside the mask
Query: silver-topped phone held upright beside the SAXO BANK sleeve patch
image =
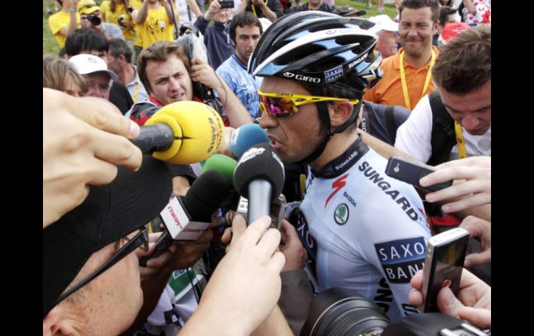
<svg viewBox="0 0 534 336"><path fill-rule="evenodd" d="M439 233L429 239L424 259L422 312L439 312L438 292L449 287L458 295L469 232L460 227Z"/></svg>

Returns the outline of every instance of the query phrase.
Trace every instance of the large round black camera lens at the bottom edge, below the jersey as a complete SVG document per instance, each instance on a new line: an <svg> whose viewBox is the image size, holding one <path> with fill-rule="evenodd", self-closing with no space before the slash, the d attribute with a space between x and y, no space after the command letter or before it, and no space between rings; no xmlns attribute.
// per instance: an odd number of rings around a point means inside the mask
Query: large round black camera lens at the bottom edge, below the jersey
<svg viewBox="0 0 534 336"><path fill-rule="evenodd" d="M384 311L352 290L331 288L311 301L300 335L381 335L389 324Z"/></svg>

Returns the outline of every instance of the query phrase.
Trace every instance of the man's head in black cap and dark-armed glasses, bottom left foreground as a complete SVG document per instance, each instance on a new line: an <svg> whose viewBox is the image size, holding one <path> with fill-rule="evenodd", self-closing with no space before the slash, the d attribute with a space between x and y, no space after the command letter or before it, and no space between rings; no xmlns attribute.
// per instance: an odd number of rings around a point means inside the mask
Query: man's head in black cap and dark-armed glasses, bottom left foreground
<svg viewBox="0 0 534 336"><path fill-rule="evenodd" d="M144 156L137 173L91 186L87 199L43 230L43 335L118 335L143 304L137 256L144 224L169 201L171 177Z"/></svg>

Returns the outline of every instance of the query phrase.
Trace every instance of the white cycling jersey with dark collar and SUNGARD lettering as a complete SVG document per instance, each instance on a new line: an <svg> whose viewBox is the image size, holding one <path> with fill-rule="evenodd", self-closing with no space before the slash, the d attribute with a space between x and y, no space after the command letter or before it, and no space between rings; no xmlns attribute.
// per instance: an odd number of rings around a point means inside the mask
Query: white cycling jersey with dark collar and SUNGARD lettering
<svg viewBox="0 0 534 336"><path fill-rule="evenodd" d="M413 186L388 177L386 159L357 139L320 172L311 170L298 233L318 291L356 290L391 321L418 312L410 279L422 269L431 236Z"/></svg>

